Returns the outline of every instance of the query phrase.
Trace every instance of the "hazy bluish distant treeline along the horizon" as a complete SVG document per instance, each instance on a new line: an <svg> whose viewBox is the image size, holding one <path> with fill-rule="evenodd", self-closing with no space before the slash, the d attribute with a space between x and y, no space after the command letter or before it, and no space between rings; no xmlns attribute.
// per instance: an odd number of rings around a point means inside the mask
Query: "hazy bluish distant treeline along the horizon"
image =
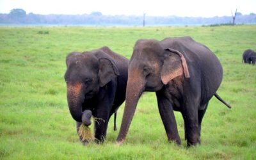
<svg viewBox="0 0 256 160"><path fill-rule="evenodd" d="M231 15L211 18L145 16L145 26L211 25L230 24L231 22ZM39 15L34 13L27 14L22 9L13 9L8 14L0 13L0 24L141 26L143 24L143 15L102 15L100 12L83 15ZM256 24L256 14L242 15L242 13L237 13L236 24Z"/></svg>

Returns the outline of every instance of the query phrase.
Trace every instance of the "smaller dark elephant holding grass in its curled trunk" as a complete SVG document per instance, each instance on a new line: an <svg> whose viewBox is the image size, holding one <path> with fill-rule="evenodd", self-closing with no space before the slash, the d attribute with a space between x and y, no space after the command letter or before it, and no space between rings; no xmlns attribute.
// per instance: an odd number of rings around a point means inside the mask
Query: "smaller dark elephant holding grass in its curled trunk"
<svg viewBox="0 0 256 160"><path fill-rule="evenodd" d="M71 52L66 58L67 102L79 126L94 124L96 143L104 143L109 118L125 100L129 60L102 47L87 52ZM115 129L116 130L116 125ZM88 143L88 141L82 141Z"/></svg>

